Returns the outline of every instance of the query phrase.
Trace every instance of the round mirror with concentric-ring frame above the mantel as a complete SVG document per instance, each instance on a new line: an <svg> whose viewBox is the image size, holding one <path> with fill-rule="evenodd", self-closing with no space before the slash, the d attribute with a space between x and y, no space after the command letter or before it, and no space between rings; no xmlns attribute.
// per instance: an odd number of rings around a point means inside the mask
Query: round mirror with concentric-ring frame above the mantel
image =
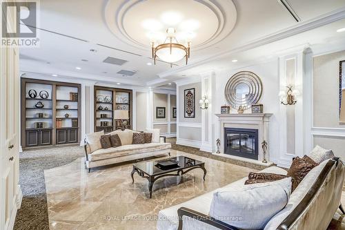
<svg viewBox="0 0 345 230"><path fill-rule="evenodd" d="M233 75L225 87L226 101L235 109L239 106L250 108L259 102L261 95L262 82L255 73L249 71Z"/></svg>

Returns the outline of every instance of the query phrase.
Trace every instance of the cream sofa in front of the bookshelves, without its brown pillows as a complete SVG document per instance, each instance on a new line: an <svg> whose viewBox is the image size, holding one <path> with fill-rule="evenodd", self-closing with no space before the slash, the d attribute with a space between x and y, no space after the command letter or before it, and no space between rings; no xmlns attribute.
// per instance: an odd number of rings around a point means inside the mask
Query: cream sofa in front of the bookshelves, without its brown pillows
<svg viewBox="0 0 345 230"><path fill-rule="evenodd" d="M117 148L100 148L99 137L104 135L99 132L95 136L95 133L86 135L85 140L85 165L89 170L97 166L104 166L108 164L116 164L119 162L126 162L130 160L143 159L147 157L159 157L164 155L170 155L171 144L165 143L165 138L159 136L159 129L152 129L148 132L152 133L152 143L149 144L132 144L133 133L139 133L126 129L124 131L117 130L110 135L119 135L122 146ZM91 140L91 135L94 140ZM89 142L92 141L92 144ZM98 147L97 147L98 145ZM96 147L95 147L96 146ZM97 150L95 150L95 148ZM92 151L93 150L93 151Z"/></svg>

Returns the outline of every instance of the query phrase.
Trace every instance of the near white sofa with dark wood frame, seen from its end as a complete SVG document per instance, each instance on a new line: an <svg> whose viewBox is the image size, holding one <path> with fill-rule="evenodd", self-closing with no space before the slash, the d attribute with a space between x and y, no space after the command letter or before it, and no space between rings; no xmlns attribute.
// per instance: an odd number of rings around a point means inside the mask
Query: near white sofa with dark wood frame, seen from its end
<svg viewBox="0 0 345 230"><path fill-rule="evenodd" d="M262 172L282 175L287 173L277 166ZM340 204L344 172L344 164L337 157L316 166L291 193L286 207L274 215L264 229L326 229ZM247 179L243 178L215 191L242 187ZM157 229L237 229L209 216L215 191L159 211Z"/></svg>

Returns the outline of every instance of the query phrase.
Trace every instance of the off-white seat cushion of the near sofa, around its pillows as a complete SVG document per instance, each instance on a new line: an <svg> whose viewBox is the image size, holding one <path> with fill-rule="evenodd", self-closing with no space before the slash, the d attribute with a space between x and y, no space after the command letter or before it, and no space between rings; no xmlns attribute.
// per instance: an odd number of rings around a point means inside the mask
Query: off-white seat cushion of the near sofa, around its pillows
<svg viewBox="0 0 345 230"><path fill-rule="evenodd" d="M287 171L279 168L277 166L270 166L269 168L266 168L262 171L262 173L277 173L281 175L286 175ZM215 189L215 191L218 191L220 189L236 189L236 188L242 188L244 186L244 182L247 180L247 178L242 178L240 180L237 180L233 183L227 184L226 186ZM209 193L205 193L204 195L200 195L196 198L193 198L192 200L188 200L186 202L183 202L181 204L177 204L172 207L168 207L166 209L163 209L159 211L158 213L158 222L157 222L157 229L158 230L177 230L177 227L179 225L179 218L177 216L177 209L181 207L186 207L188 209L193 209L195 211L198 211L199 213L203 213L205 215L208 215L210 211L211 202L213 200L213 193L215 191L210 191ZM202 205L200 205L202 204Z"/></svg>

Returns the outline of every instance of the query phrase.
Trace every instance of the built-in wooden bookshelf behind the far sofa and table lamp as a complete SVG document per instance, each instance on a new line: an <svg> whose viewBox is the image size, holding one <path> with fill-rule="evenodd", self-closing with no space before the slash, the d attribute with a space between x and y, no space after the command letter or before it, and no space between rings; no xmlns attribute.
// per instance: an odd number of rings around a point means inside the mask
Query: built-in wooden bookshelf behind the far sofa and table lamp
<svg viewBox="0 0 345 230"><path fill-rule="evenodd" d="M132 90L95 86L94 92L95 131L110 133L119 128L132 128ZM126 111L128 119L115 119L117 110Z"/></svg>

